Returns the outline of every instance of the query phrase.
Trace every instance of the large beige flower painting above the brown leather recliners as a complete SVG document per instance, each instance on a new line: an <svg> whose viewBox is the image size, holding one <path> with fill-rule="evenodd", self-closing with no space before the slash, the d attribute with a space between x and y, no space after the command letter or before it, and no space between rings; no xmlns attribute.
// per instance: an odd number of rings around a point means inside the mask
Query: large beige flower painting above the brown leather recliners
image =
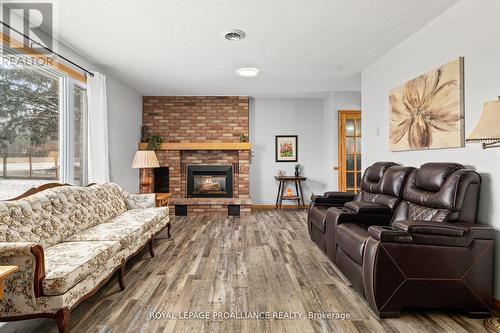
<svg viewBox="0 0 500 333"><path fill-rule="evenodd" d="M389 93L391 151L463 147L463 58Z"/></svg>

